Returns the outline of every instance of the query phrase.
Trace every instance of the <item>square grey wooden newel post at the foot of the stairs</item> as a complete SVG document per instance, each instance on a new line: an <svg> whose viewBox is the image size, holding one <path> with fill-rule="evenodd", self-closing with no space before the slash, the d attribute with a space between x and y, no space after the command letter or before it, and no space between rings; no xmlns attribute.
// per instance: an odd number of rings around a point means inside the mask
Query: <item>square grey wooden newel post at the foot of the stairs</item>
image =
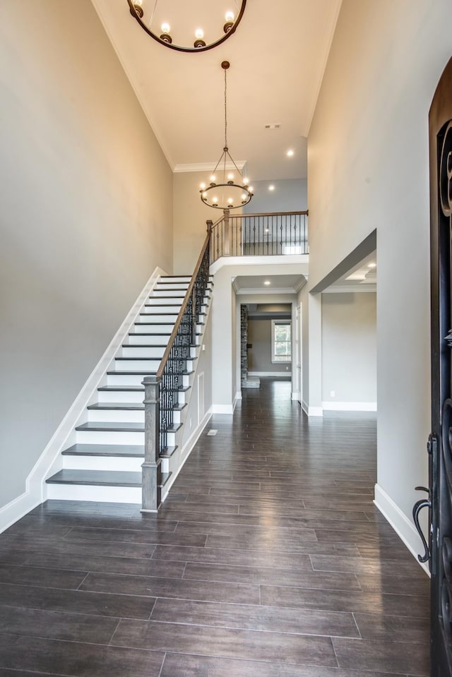
<svg viewBox="0 0 452 677"><path fill-rule="evenodd" d="M162 502L162 460L159 455L161 376L145 376L144 385L144 463L142 513L156 513Z"/></svg>

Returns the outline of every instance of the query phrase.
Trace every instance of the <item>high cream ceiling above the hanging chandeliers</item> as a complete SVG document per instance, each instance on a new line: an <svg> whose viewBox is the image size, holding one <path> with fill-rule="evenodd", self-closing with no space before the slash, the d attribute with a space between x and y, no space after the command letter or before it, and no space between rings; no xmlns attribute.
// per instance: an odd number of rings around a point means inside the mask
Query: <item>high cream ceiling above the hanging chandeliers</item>
<svg viewBox="0 0 452 677"><path fill-rule="evenodd" d="M234 35L198 54L152 40L126 0L92 1L174 171L206 163L213 168L220 157L220 64L227 60L227 136L234 160L246 162L251 181L307 176L307 134L341 0L248 0ZM153 2L143 0L143 7ZM177 4L186 2L170 4L177 12ZM289 149L293 157L287 157Z"/></svg>

